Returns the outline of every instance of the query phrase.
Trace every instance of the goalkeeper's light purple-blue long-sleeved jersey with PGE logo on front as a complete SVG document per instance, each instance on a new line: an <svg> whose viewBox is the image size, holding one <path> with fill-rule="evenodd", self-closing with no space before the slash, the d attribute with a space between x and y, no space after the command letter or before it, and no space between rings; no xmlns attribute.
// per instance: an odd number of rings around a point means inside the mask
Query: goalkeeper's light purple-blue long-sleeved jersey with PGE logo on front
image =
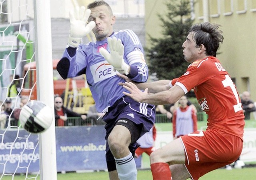
<svg viewBox="0 0 256 180"><path fill-rule="evenodd" d="M148 66L144 58L129 58L128 54L132 51L141 51L144 53L138 36L132 30L120 30L113 33L110 37L116 37L124 45L124 62L137 68L136 74L133 74L133 81L146 82L148 79ZM92 92L98 112L104 111L112 106L118 99L124 96L125 88L118 85L118 82L125 82L124 79L116 75L113 66L111 66L100 54L99 49L104 47L109 52L107 38L102 41L80 44L76 54L70 57L67 49L63 57L70 60L70 67L67 78L73 78L80 74L86 74L86 80ZM132 56L132 55L130 55ZM131 72L130 72L131 73Z"/></svg>

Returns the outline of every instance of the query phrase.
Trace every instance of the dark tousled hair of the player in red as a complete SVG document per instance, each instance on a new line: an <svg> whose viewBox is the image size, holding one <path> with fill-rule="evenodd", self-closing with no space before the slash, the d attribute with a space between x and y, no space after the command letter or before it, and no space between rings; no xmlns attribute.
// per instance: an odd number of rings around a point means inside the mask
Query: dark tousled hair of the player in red
<svg viewBox="0 0 256 180"><path fill-rule="evenodd" d="M206 47L206 54L216 57L220 42L223 42L224 39L222 31L218 29L219 27L218 24L203 22L191 26L188 32L194 32L193 38L196 41L196 48L203 44Z"/></svg>

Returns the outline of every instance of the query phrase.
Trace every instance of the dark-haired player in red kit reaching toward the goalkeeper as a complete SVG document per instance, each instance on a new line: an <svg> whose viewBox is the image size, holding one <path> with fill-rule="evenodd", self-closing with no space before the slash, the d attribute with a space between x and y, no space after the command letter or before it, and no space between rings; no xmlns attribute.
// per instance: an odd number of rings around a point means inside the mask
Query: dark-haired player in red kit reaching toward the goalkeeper
<svg viewBox="0 0 256 180"><path fill-rule="evenodd" d="M186 72L173 80L151 83L119 83L138 102L171 104L194 89L198 103L208 114L208 127L170 142L150 155L153 179L197 180L204 174L234 162L243 147L244 114L234 82L216 58L223 42L219 25L193 25L182 45ZM145 90L142 92L141 90Z"/></svg>

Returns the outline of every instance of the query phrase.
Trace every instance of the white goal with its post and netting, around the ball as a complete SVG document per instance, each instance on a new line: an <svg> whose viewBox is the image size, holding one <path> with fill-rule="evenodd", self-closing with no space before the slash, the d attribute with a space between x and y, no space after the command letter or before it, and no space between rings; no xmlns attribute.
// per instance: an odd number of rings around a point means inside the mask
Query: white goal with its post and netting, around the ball
<svg viewBox="0 0 256 180"><path fill-rule="evenodd" d="M33 61L36 69L24 73ZM57 179L54 120L42 134L26 132L18 120L35 89L54 117L52 79L50 0L0 0L0 179Z"/></svg>

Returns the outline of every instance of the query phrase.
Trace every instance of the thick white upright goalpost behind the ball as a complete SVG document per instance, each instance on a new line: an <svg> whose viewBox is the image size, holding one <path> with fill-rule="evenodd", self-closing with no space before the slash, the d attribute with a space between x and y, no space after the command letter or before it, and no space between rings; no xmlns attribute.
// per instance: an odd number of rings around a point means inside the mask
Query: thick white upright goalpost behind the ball
<svg viewBox="0 0 256 180"><path fill-rule="evenodd" d="M36 68L38 99L52 107L54 117L54 92L52 70L52 34L50 17L50 0L34 0L34 17L36 29ZM56 139L55 123L39 134L40 179L56 180Z"/></svg>

